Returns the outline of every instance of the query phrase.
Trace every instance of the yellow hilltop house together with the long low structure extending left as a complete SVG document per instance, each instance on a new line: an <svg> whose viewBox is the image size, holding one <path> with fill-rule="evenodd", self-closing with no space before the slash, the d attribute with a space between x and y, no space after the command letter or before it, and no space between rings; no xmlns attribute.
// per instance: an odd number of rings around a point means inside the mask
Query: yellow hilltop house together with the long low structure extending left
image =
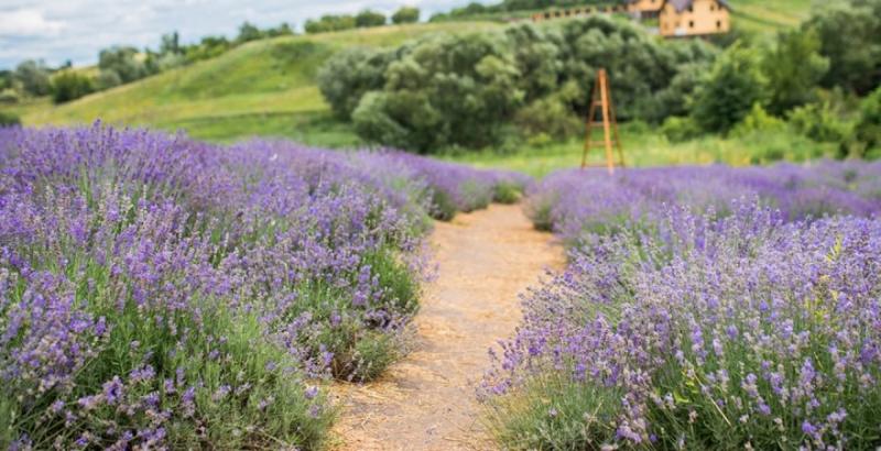
<svg viewBox="0 0 881 451"><path fill-rule="evenodd" d="M623 0L607 7L543 11L533 14L532 21L629 12L637 19L657 19L657 32L665 37L703 36L731 31L730 11L726 0Z"/></svg>

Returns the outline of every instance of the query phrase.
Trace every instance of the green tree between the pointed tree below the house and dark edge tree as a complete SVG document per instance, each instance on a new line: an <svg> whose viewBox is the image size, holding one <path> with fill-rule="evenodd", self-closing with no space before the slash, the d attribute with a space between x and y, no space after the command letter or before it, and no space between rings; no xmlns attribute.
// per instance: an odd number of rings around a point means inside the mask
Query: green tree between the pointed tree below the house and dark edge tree
<svg viewBox="0 0 881 451"><path fill-rule="evenodd" d="M820 42L814 29L784 31L765 53L762 73L768 78L768 110L782 116L816 99L816 87L829 72L829 58L819 54Z"/></svg>

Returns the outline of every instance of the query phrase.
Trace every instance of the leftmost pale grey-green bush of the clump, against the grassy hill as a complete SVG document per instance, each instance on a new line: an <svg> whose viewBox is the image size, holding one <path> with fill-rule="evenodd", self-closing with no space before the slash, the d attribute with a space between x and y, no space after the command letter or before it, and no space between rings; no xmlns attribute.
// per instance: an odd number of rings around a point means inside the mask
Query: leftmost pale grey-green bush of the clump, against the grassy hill
<svg viewBox="0 0 881 451"><path fill-rule="evenodd" d="M350 47L331 56L318 70L318 88L334 113L350 119L361 97L382 89L393 55L368 47Z"/></svg>

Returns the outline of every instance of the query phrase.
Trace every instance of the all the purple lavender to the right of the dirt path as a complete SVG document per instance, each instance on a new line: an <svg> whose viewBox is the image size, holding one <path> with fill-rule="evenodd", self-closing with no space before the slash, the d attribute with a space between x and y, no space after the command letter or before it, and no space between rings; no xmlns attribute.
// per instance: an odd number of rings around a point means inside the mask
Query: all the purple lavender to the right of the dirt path
<svg viewBox="0 0 881 451"><path fill-rule="evenodd" d="M482 386L513 449L881 444L881 166L552 175L570 245Z"/></svg>

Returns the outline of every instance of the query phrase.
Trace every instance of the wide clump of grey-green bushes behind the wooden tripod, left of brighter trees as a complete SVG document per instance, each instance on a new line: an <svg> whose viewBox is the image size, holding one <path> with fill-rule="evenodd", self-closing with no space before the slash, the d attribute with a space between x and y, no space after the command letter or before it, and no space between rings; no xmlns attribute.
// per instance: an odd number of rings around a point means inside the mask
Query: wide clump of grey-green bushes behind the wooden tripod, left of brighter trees
<svg viewBox="0 0 881 451"><path fill-rule="evenodd" d="M617 74L611 84L622 119L666 117L667 105L649 99L670 92L678 68L690 70L713 54L699 41L659 41L637 25L592 16L432 36L382 57L341 53L326 63L319 86L341 118L357 105L352 124L368 142L423 153L480 148L511 138L512 122L533 135L574 132L600 66ZM553 117L543 116L546 109Z"/></svg>

